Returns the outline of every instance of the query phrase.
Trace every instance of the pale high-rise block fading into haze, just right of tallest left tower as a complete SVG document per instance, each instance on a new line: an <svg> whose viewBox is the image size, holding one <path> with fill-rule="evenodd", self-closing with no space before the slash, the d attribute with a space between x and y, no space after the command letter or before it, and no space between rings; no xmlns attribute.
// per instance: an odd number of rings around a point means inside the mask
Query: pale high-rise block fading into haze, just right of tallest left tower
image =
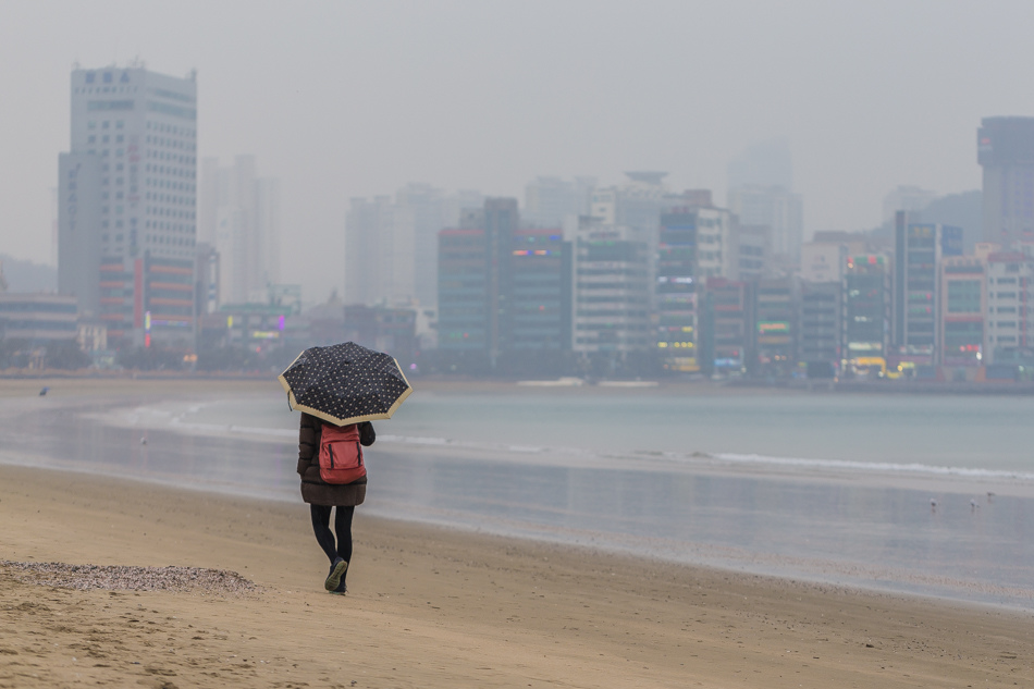
<svg viewBox="0 0 1034 689"><path fill-rule="evenodd" d="M224 304L263 302L280 281L280 181L259 177L254 156L201 163L198 235L219 254Z"/></svg>

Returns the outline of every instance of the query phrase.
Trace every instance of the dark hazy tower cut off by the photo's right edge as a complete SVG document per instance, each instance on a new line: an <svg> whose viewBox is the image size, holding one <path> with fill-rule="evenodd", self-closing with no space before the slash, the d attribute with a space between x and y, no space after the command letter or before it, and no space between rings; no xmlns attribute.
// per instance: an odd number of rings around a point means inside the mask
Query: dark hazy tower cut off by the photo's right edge
<svg viewBox="0 0 1034 689"><path fill-rule="evenodd" d="M1034 238L1034 118L984 118L976 135L984 169L984 241Z"/></svg>

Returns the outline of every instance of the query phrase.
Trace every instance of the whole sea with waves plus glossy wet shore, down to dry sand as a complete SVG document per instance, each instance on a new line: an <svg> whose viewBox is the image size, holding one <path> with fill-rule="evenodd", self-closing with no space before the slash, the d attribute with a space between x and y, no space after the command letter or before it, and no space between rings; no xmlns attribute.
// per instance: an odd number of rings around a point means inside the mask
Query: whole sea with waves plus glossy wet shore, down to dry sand
<svg viewBox="0 0 1034 689"><path fill-rule="evenodd" d="M362 509L1034 610L1032 411L1021 396L418 386L376 423ZM298 415L282 395L95 414L27 415L3 444L59 466L298 500ZM34 426L47 423L61 433Z"/></svg>

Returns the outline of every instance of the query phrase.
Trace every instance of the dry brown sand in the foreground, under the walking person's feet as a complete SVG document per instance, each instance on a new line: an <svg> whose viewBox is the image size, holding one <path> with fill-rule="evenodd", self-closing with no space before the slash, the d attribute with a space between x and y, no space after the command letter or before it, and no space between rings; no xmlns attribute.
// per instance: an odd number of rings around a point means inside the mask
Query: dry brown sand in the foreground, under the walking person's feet
<svg viewBox="0 0 1034 689"><path fill-rule="evenodd" d="M0 466L0 559L98 566L47 577L0 566L0 687L962 688L1034 677L1031 614L377 520L361 507L355 532L349 593L336 596L322 590L327 563L300 501ZM184 571L109 566L224 571L165 590L63 586ZM223 586L227 573L255 589Z"/></svg>

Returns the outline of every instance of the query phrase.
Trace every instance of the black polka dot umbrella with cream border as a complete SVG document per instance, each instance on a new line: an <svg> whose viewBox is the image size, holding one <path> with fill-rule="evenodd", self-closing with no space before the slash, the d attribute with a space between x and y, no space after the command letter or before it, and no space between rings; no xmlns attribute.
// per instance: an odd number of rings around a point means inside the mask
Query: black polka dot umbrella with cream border
<svg viewBox="0 0 1034 689"><path fill-rule="evenodd" d="M337 426L389 419L413 392L394 358L354 342L309 347L278 380L292 409Z"/></svg>

